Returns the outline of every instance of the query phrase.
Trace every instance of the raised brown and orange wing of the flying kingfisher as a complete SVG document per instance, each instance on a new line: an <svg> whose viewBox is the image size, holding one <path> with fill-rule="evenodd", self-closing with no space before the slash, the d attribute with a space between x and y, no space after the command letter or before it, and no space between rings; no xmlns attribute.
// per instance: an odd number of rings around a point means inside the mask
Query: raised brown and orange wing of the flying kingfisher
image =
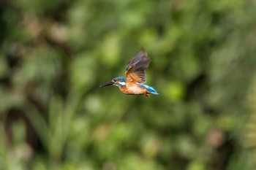
<svg viewBox="0 0 256 170"><path fill-rule="evenodd" d="M134 58L127 64L127 84L129 83L145 83L146 82L146 69L148 69L150 59L145 49L141 49Z"/></svg>

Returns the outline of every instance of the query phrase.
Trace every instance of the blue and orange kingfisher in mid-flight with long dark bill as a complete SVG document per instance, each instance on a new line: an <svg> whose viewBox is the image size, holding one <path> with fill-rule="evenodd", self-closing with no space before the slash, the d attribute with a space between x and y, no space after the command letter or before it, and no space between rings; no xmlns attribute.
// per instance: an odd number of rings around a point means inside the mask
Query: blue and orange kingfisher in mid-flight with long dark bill
<svg viewBox="0 0 256 170"><path fill-rule="evenodd" d="M127 95L145 95L150 97L150 94L158 95L157 90L144 85L146 82L146 69L148 69L151 60L148 58L148 54L144 48L132 58L127 64L125 77L113 78L110 82L106 82L100 87L108 85L116 85L121 92Z"/></svg>

